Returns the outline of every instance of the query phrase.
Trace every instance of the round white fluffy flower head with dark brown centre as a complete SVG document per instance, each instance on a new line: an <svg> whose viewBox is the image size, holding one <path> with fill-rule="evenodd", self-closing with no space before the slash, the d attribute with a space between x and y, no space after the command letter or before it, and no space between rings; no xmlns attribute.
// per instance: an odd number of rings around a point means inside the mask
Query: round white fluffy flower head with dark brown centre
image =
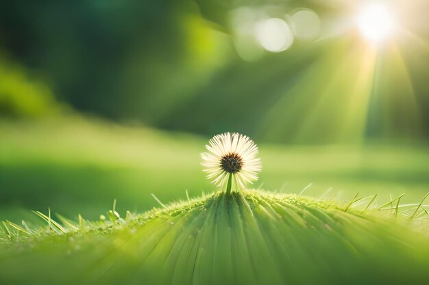
<svg viewBox="0 0 429 285"><path fill-rule="evenodd" d="M258 146L252 139L239 133L223 133L212 137L209 143L208 153L201 153L201 165L206 167L204 172L215 185L226 185L231 177L244 188L246 183L258 180L262 165L256 157Z"/></svg>

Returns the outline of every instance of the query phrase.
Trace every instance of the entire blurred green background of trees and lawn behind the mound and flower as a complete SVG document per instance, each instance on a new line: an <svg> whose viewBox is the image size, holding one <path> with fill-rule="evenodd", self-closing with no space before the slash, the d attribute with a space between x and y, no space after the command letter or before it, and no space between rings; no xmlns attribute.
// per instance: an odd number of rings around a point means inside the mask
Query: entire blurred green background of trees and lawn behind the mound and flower
<svg viewBox="0 0 429 285"><path fill-rule="evenodd" d="M199 153L225 131L260 146L256 188L419 201L429 3L378 2L387 20L371 1L2 1L0 219L214 191Z"/></svg>

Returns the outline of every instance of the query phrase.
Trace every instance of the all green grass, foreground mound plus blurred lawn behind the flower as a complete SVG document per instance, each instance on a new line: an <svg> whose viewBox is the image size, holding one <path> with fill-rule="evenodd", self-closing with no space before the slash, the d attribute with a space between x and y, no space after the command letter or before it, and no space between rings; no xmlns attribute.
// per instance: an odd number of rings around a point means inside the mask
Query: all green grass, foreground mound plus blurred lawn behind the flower
<svg viewBox="0 0 429 285"><path fill-rule="evenodd" d="M228 198L201 171L206 137L79 117L0 135L0 284L428 280L424 145L259 144L254 187L273 191Z"/></svg>

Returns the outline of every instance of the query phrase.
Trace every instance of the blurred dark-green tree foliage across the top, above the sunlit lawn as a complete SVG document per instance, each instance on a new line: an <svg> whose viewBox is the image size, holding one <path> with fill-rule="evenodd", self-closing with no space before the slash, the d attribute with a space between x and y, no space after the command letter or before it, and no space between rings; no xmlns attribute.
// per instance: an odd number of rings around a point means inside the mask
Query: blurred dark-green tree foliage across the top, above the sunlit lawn
<svg viewBox="0 0 429 285"><path fill-rule="evenodd" d="M2 1L0 46L49 78L59 100L112 120L206 135L240 131L289 143L427 136L429 72L421 64L427 49L407 46L403 63L397 60L402 72L374 85L367 106L348 100L350 93L367 90L345 86L358 78L362 62L352 58L348 70L342 66L350 51L360 49L353 35L297 41L284 53L263 53L253 62L234 50L231 9L263 4L270 16L280 17L305 6L323 17L341 10L332 3ZM391 68L396 66L378 70ZM404 74L406 85L398 86ZM412 103L402 99L408 93L415 96Z"/></svg>

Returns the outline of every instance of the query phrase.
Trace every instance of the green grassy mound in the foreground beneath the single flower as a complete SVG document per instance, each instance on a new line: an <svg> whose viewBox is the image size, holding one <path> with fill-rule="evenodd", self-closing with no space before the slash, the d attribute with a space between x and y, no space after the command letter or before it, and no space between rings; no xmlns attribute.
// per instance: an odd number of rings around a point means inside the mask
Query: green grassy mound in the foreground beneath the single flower
<svg viewBox="0 0 429 285"><path fill-rule="evenodd" d="M410 219L263 191L32 230L5 223L0 284L423 284Z"/></svg>

